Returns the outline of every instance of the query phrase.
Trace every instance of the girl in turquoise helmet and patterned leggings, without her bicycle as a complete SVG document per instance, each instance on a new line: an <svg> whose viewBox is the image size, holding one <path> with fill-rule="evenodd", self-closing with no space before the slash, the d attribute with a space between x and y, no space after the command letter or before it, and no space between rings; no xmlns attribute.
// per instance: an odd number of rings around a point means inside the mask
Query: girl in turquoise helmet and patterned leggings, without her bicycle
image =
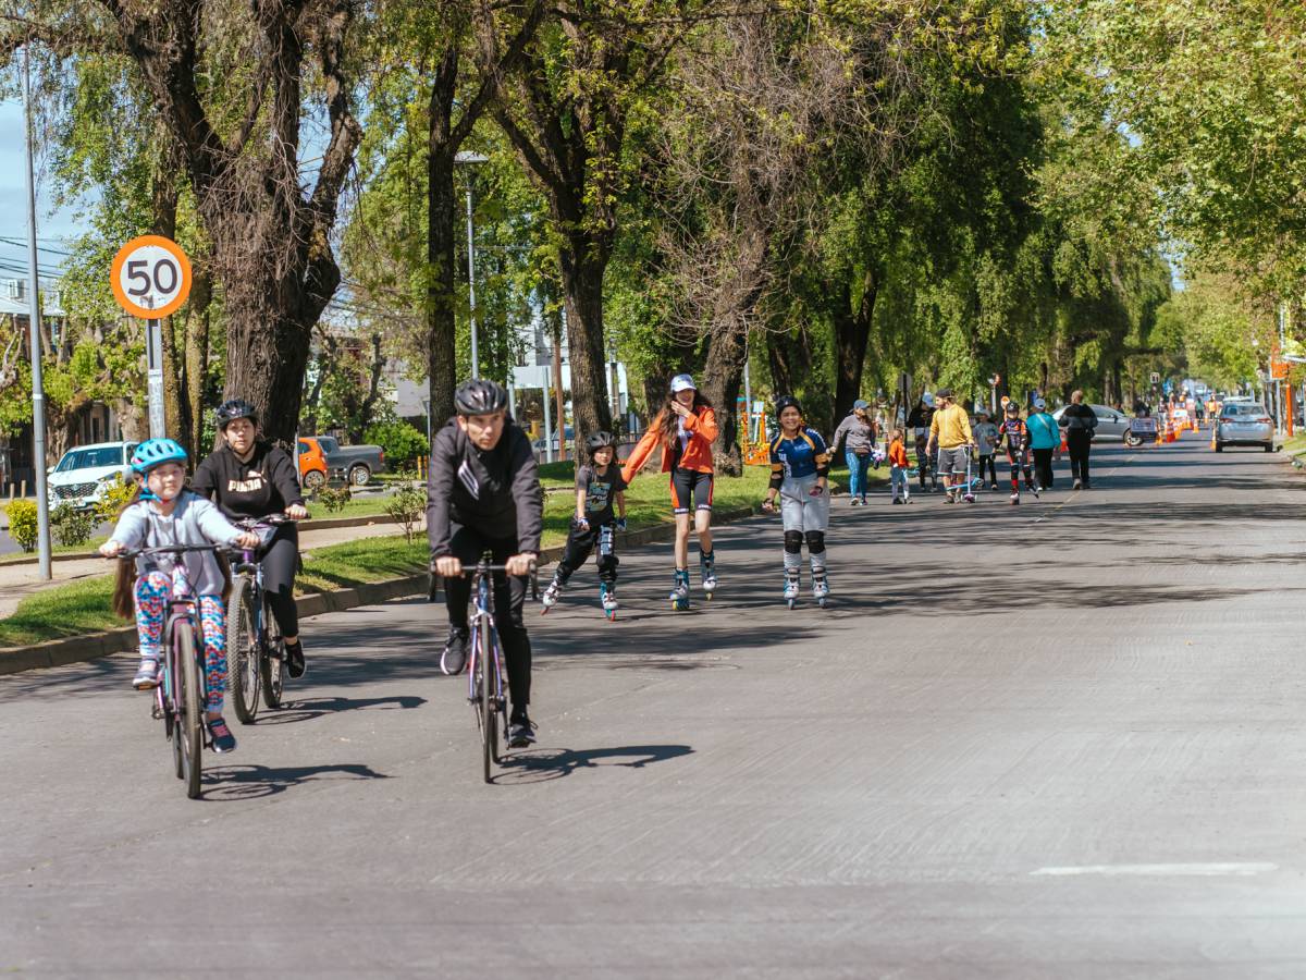
<svg viewBox="0 0 1306 980"><path fill-rule="evenodd" d="M132 453L132 469L145 482L137 499L118 519L99 553L112 558L123 551L166 545L239 545L257 547L259 536L232 527L209 500L185 489L187 455L171 439L148 439ZM133 583L135 579L135 583ZM114 591L114 610L123 617L135 612L141 640L141 665L132 686L153 690L159 682L163 618L168 596L185 588L195 598L200 632L204 636L206 721L213 749L229 753L236 740L222 720L222 690L226 685L226 605L223 593L227 572L213 551L183 555L149 555L135 567L119 564Z"/></svg>

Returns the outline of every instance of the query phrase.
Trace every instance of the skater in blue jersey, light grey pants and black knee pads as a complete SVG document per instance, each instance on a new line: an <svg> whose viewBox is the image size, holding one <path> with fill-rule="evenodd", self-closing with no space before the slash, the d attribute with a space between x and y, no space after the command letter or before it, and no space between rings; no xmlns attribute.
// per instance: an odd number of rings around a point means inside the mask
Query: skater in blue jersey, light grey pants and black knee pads
<svg viewBox="0 0 1306 980"><path fill-rule="evenodd" d="M785 520L785 601L793 609L798 601L799 568L803 561L803 538L812 570L812 598L825 605L829 583L825 580L825 531L829 527L829 451L815 429L803 422L797 399L776 400L780 435L771 443L771 485L761 508L776 510Z"/></svg>

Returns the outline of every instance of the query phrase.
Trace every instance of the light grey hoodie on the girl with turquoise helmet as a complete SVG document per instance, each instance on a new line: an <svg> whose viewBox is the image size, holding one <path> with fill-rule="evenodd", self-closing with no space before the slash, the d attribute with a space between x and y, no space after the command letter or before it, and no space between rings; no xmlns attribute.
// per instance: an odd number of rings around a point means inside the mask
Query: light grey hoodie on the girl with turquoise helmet
<svg viewBox="0 0 1306 980"><path fill-rule="evenodd" d="M165 517L153 500L137 500L118 519L110 536L128 550L162 547L165 545L232 545L243 532L232 525L212 500L205 500L192 490L183 490L172 514ZM180 555L187 578L197 596L222 595L226 584L217 555L212 551L191 551ZM145 555L136 559L136 574L158 570L172 574L175 558L168 554Z"/></svg>

